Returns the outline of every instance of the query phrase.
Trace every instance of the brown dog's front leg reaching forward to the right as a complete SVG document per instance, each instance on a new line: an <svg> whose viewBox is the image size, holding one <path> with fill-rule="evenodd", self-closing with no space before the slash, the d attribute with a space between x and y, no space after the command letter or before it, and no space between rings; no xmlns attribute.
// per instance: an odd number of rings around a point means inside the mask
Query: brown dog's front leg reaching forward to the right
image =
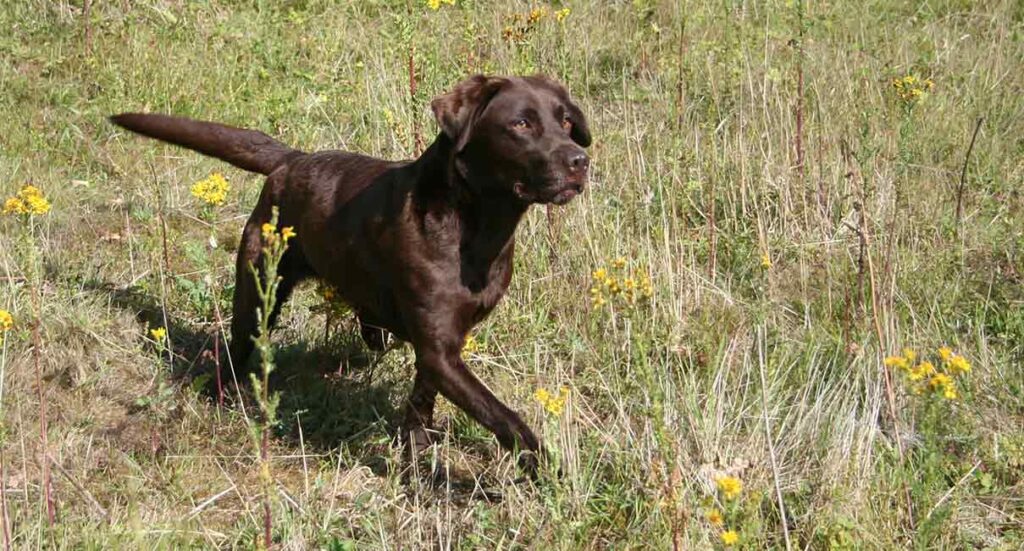
<svg viewBox="0 0 1024 551"><path fill-rule="evenodd" d="M461 342L450 343L447 346L436 343L417 345L417 380L424 377L441 395L494 432L502 447L511 452L519 452L519 466L531 477L536 477L538 460L543 453L540 440L517 413L502 404L469 371L460 357L460 344Z"/></svg>

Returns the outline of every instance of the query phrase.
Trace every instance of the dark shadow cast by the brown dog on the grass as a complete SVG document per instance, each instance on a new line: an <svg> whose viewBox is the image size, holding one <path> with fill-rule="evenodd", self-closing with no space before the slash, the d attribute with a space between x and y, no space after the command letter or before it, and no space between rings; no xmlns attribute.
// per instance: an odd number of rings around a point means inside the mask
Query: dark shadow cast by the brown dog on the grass
<svg viewBox="0 0 1024 551"><path fill-rule="evenodd" d="M215 335L187 321L174 316L164 320L160 300L139 289L125 289L106 283L86 284L97 293L105 293L111 302L131 311L150 328L166 327L174 362L170 379L180 386L190 386L217 401L213 350ZM219 357L224 380L225 407L240 410L238 396L246 407L255 409L248 376L236 367L241 392L231 382L223 342ZM401 421L401 404L412 382L400 362L388 361L394 352L370 351L355 330L336 335L329 345L293 342L275 347L276 369L270 388L281 392L276 437L309 454L344 453L355 458L378 476L386 476L394 466L393 442ZM256 367L255 354L249 366ZM339 369L341 367L341 369ZM397 405L397 407L396 407ZM300 432L301 431L301 432ZM464 442L466 443L466 442ZM470 446L470 448L474 448ZM489 453L483 446L481 456ZM480 486L471 473L443 474L443 466L433 473L418 476L420 488L432 488L458 502L500 501L500 494Z"/></svg>

